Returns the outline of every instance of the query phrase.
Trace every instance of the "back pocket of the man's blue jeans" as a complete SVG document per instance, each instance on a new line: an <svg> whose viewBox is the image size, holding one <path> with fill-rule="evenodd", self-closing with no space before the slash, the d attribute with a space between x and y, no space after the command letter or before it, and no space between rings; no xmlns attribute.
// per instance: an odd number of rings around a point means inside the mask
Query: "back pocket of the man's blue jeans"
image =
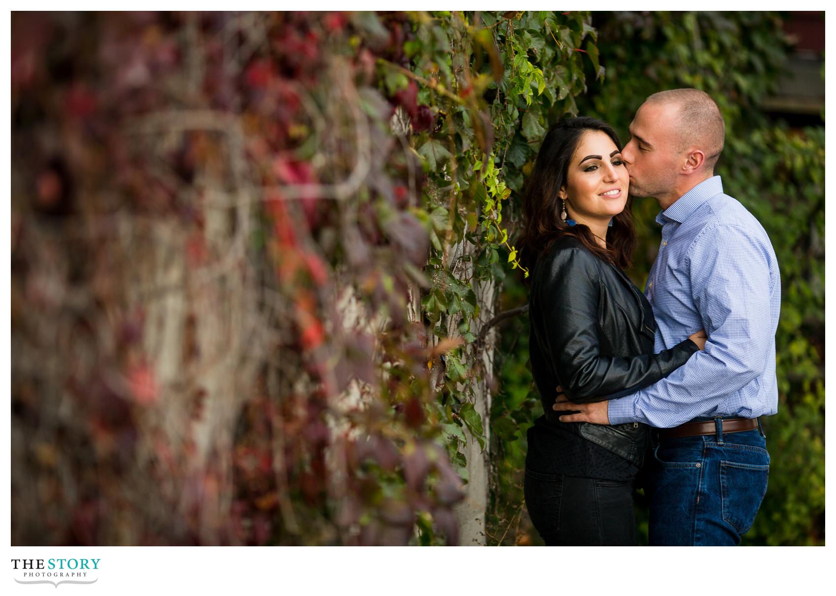
<svg viewBox="0 0 836 596"><path fill-rule="evenodd" d="M768 457L768 456L767 456ZM768 461L768 459L767 459ZM767 494L769 465L720 461L720 491L723 521L745 534L755 522Z"/></svg>

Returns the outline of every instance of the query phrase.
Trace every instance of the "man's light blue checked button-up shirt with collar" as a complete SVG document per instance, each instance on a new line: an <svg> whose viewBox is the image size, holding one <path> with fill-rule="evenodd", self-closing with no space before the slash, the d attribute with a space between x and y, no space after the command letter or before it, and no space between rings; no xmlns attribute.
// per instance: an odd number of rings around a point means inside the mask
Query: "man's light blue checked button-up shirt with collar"
<svg viewBox="0 0 836 596"><path fill-rule="evenodd" d="M670 428L697 416L775 414L781 279L767 232L723 194L720 176L686 192L656 222L662 242L645 286L655 352L700 329L708 341L665 379L610 400L609 423Z"/></svg>

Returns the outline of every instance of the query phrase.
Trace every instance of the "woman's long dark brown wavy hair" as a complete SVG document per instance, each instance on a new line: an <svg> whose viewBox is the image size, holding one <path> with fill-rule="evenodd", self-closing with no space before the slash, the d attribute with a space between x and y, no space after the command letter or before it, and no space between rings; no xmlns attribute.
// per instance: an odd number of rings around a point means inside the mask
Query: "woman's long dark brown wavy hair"
<svg viewBox="0 0 836 596"><path fill-rule="evenodd" d="M613 262L621 268L630 267L630 258L635 248L635 227L630 211L632 199L628 199L624 211L613 217L612 227L607 228L607 248L595 242L589 227L582 223L570 227L560 219L562 201L558 191L566 186L572 155L584 133L595 130L606 133L621 150L621 141L615 130L605 122L589 116L560 120L548 129L543 138L543 145L540 145L523 196L523 235L517 245L525 267L533 267L549 245L563 236L578 238L584 247L605 261Z"/></svg>

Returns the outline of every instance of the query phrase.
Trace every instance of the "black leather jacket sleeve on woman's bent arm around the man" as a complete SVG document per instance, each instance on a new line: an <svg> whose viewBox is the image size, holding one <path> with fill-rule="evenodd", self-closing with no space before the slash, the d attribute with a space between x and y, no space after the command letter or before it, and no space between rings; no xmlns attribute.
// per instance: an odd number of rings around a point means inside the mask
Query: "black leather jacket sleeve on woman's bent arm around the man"
<svg viewBox="0 0 836 596"><path fill-rule="evenodd" d="M533 289L543 314L541 344L569 400L612 400L670 374L699 351L690 339L659 354L607 356L599 349L600 271L595 257L579 248L558 251L543 263Z"/></svg>

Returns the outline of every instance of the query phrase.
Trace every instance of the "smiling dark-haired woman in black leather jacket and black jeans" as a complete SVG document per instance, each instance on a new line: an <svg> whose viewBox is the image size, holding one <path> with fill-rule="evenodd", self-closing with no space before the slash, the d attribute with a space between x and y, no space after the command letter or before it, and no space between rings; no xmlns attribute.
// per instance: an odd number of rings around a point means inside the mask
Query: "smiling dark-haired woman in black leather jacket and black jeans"
<svg viewBox="0 0 836 596"><path fill-rule="evenodd" d="M653 354L650 303L622 272L635 231L620 150L600 120L553 125L523 201L529 349L546 412L528 430L525 499L549 545L635 545L632 489L647 441L639 423L560 422L555 388L576 403L629 395L705 345L699 332Z"/></svg>

